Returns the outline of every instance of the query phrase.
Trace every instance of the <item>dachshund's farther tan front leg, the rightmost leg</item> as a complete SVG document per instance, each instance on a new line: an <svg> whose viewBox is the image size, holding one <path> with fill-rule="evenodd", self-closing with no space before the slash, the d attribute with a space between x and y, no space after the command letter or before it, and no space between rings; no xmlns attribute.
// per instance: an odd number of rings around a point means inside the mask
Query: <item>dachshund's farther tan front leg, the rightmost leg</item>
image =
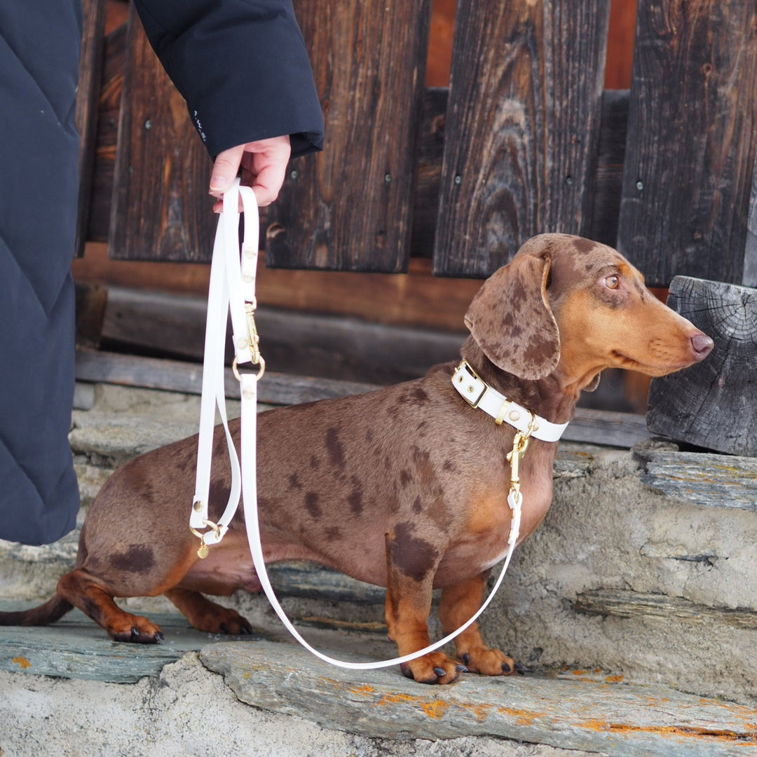
<svg viewBox="0 0 757 757"><path fill-rule="evenodd" d="M462 584L446 587L441 592L439 619L444 634L451 634L475 615L481 606L481 597L489 571L485 571ZM484 644L478 622L472 623L455 638L457 659L472 673L483 675L509 675L520 666L500 650Z"/></svg>

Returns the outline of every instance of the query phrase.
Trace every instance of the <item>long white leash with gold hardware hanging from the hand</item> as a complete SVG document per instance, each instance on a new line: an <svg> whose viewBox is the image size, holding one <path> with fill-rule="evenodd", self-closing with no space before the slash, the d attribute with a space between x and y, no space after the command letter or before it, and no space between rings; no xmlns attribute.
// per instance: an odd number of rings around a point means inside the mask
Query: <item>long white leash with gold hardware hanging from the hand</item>
<svg viewBox="0 0 757 757"><path fill-rule="evenodd" d="M241 197L245 212L245 236L242 242L241 257L238 243L238 198ZM510 491L507 503L512 510L508 548L505 562L497 578L494 588L481 604L478 612L464 625L447 634L443 639L409 655L396 657L378 662L346 662L329 657L310 646L279 604L276 593L271 586L265 559L263 545L260 543L260 524L257 512L257 382L265 370L265 362L258 350L257 329L254 324L254 310L257 307L255 298L255 273L257 270L259 221L257 202L249 187L241 187L238 182L223 196L223 212L220 214L216 241L213 247L213 262L210 266L210 291L207 305L207 326L205 332L205 355L203 363L202 395L200 409L200 435L198 441L198 462L195 485L195 497L189 527L192 533L200 539L198 556L207 557L209 547L218 544L229 528L240 494L244 495L245 522L253 564L260 580L260 585L266 593L271 606L276 610L285 628L316 657L332 665L350 670L371 670L386 668L410 662L429 652L438 650L449 643L466 628L474 623L482 612L489 606L494 594L502 584L507 571L512 552L515 550L520 531L522 494L518 474L519 460L528 447L528 439L535 431L537 422L543 419L531 417L526 427L519 428L513 441L512 452L507 456L511 463ZM234 372L239 379L241 392L241 466L229 432L226 421L226 395L223 386L223 343L226 338L226 313L231 310L233 341L236 358ZM257 373L240 373L238 366L251 363L259 366ZM466 377L468 376L466 372ZM475 376L475 374L474 374ZM478 379L475 376L475 379ZM478 387L478 385L477 385ZM484 385L485 387L485 385ZM458 391L459 388L458 388ZM478 391L478 388L477 390ZM463 394L465 396L465 394ZM473 404L473 403L471 403ZM215 409L218 407L223 427L226 431L226 444L229 448L229 459L232 466L232 485L226 509L217 523L208 518L208 495L210 491L210 466L213 453L213 422ZM476 405L473 405L476 407ZM511 422L505 418L507 422ZM501 422L501 421L500 421ZM515 424L512 424L515 425ZM207 529L207 530L204 530Z"/></svg>

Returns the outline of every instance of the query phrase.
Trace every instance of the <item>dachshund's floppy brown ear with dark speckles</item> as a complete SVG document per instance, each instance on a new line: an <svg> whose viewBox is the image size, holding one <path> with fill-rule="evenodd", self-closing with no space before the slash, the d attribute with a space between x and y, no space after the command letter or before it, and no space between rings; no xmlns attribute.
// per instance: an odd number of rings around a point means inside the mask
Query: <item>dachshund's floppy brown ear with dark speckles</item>
<svg viewBox="0 0 757 757"><path fill-rule="evenodd" d="M549 375L560 359L559 330L547 301L549 247L537 240L484 282L465 317L486 357L528 380Z"/></svg>

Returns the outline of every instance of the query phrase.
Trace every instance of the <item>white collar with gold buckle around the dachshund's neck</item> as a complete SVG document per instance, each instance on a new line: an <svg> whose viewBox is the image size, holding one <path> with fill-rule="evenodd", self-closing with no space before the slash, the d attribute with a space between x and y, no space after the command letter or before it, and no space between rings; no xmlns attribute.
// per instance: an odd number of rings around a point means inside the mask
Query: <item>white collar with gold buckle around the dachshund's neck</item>
<svg viewBox="0 0 757 757"><path fill-rule="evenodd" d="M496 423L508 423L522 433L528 433L531 422L531 436L541 441L559 441L567 423L551 423L546 418L526 410L517 402L508 400L504 394L489 386L471 368L467 360L462 360L452 374L452 385L471 407L478 407Z"/></svg>

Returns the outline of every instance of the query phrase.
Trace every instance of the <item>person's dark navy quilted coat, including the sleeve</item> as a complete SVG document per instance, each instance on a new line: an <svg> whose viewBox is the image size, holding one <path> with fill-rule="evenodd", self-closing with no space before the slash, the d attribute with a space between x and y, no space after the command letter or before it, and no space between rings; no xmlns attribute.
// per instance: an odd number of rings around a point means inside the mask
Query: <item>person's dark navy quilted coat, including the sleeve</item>
<svg viewBox="0 0 757 757"><path fill-rule="evenodd" d="M151 43L211 157L322 115L288 0L139 0ZM58 540L79 492L68 431L79 139L80 0L0 3L0 538Z"/></svg>

